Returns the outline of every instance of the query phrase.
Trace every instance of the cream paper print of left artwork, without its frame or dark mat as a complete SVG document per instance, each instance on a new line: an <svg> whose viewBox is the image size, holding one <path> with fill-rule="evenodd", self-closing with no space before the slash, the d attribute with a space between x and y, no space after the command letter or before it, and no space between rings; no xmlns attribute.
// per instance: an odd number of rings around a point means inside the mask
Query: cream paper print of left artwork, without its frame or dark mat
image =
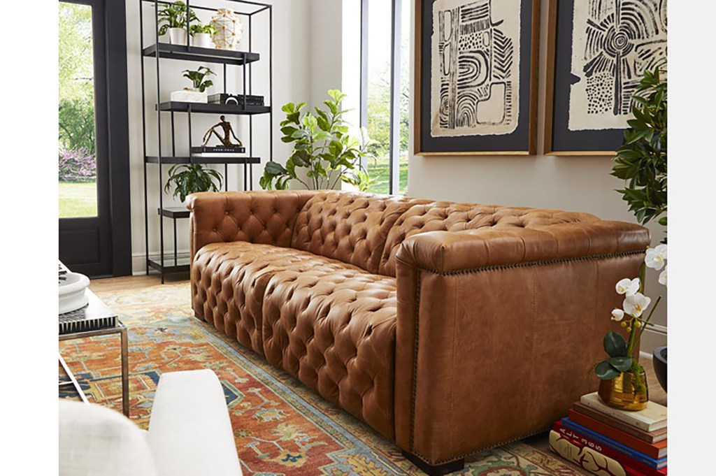
<svg viewBox="0 0 716 476"><path fill-rule="evenodd" d="M506 135L520 92L520 0L436 0L430 134Z"/></svg>

